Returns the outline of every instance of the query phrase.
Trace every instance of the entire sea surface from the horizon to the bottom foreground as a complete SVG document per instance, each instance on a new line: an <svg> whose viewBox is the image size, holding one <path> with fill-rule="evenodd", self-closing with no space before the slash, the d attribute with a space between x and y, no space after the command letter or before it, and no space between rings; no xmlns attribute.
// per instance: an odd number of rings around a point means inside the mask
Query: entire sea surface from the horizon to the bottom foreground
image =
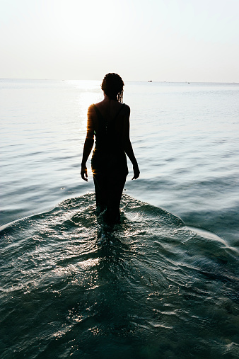
<svg viewBox="0 0 239 359"><path fill-rule="evenodd" d="M100 82L0 91L1 358L239 358L239 85L125 84L115 227L80 178Z"/></svg>

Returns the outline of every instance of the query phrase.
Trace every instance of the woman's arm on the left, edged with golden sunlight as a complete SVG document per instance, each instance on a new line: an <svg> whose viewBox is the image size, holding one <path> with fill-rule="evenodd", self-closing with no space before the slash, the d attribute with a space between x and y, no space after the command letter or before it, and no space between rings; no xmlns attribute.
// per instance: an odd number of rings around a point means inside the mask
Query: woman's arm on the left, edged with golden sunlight
<svg viewBox="0 0 239 359"><path fill-rule="evenodd" d="M94 126L92 119L92 110L93 110L93 106L90 106L88 108L88 113L87 113L87 132L86 132L86 140L83 148L83 156L81 161L81 178L84 181L88 181L86 161L88 160L88 156L90 155L94 144Z"/></svg>

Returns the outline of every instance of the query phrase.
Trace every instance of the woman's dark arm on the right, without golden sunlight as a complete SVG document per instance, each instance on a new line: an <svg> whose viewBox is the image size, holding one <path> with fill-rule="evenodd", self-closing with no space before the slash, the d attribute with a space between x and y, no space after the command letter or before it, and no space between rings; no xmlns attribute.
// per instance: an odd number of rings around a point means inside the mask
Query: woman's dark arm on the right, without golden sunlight
<svg viewBox="0 0 239 359"><path fill-rule="evenodd" d="M124 128L123 128L124 152L127 154L133 165L134 177L132 179L136 179L139 177L140 171L139 171L138 163L134 156L132 143L129 137L129 115L130 115L130 108L129 106L127 106L127 115L124 116Z"/></svg>

